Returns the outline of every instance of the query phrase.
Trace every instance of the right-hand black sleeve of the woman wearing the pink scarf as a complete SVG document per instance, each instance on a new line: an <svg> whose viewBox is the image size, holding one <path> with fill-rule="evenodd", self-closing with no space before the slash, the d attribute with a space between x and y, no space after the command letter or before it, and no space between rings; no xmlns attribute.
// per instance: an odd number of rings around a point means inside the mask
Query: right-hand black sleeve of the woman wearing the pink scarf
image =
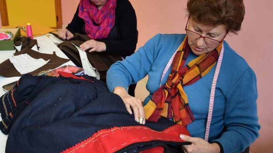
<svg viewBox="0 0 273 153"><path fill-rule="evenodd" d="M121 40L98 40L106 44L106 52L119 56L129 56L135 52L137 45L137 16L128 0L118 0L116 20ZM116 23L115 23L116 24Z"/></svg>

